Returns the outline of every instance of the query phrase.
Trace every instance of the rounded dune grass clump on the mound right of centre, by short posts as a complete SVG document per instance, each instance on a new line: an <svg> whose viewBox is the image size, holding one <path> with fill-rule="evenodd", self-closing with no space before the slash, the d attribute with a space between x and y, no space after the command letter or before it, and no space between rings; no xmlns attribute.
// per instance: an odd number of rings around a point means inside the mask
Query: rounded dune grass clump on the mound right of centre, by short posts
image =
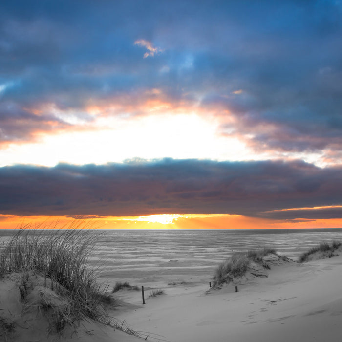
<svg viewBox="0 0 342 342"><path fill-rule="evenodd" d="M242 277L246 273L251 261L262 262L262 258L271 253L276 254L276 249L264 247L231 256L221 262L214 272L213 288L223 283L230 283L236 277Z"/></svg>

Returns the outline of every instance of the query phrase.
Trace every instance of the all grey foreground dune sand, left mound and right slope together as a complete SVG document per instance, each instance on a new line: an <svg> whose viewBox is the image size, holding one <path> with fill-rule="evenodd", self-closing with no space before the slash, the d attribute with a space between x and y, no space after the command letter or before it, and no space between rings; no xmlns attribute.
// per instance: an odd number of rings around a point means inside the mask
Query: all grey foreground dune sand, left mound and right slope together
<svg viewBox="0 0 342 342"><path fill-rule="evenodd" d="M147 341L341 339L342 256L305 264L285 263L273 266L268 274L267 278L250 278L239 284L238 292L232 284L208 291L209 283L167 285L172 279L166 279L165 294L147 298L151 289L146 289L145 305L140 291L121 290L117 296L122 303L111 315L136 331L148 332ZM8 341L144 341L92 321L81 322L76 331L67 328L61 336L47 335L48 320L37 308L23 305L16 277L10 275L0 281L0 322L6 320L15 326L13 335L7 334Z"/></svg>

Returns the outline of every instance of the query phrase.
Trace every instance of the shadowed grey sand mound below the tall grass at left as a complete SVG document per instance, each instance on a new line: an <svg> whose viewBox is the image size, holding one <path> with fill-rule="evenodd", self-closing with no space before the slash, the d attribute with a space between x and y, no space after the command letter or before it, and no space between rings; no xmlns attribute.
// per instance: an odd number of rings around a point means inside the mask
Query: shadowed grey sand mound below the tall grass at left
<svg viewBox="0 0 342 342"><path fill-rule="evenodd" d="M59 295L51 282L31 274L29 286L22 299L19 285L22 274L10 274L0 280L0 341L47 342L47 341L82 341L82 342L137 342L136 337L94 321L81 321L78 327L67 326L61 334L54 328L55 313L58 308L67 305L67 299Z"/></svg>

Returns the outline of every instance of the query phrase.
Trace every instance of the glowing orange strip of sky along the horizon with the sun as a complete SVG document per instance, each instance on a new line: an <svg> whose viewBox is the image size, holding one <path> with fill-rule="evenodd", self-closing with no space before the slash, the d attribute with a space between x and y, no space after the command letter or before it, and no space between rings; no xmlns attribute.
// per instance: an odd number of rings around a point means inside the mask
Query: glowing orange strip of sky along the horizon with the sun
<svg viewBox="0 0 342 342"><path fill-rule="evenodd" d="M188 214L135 217L79 217L0 215L0 229L313 229L342 228L342 219L273 220L242 215Z"/></svg>

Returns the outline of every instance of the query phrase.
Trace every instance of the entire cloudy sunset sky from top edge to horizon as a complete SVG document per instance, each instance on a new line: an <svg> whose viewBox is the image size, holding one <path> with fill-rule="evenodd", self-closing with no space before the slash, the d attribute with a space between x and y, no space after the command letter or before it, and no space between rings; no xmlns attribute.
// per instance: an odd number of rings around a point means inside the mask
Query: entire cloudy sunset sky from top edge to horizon
<svg viewBox="0 0 342 342"><path fill-rule="evenodd" d="M342 227L342 1L2 1L0 228Z"/></svg>

